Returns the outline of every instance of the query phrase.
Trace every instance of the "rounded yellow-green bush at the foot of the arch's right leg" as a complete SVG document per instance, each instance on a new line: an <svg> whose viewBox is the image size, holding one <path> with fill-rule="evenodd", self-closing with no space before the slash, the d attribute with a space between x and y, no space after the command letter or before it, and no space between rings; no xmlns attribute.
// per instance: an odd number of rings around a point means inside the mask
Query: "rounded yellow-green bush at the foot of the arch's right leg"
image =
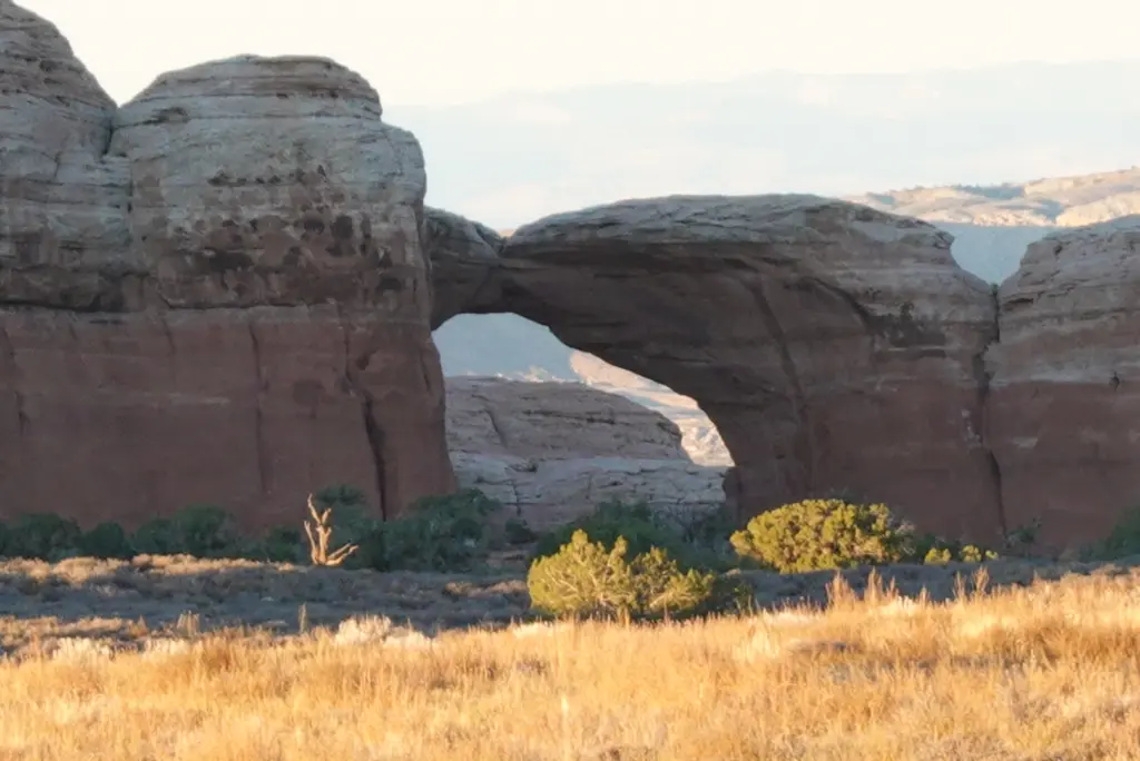
<svg viewBox="0 0 1140 761"><path fill-rule="evenodd" d="M886 505L808 499L762 513L732 535L747 560L780 573L901 563L914 537Z"/></svg>

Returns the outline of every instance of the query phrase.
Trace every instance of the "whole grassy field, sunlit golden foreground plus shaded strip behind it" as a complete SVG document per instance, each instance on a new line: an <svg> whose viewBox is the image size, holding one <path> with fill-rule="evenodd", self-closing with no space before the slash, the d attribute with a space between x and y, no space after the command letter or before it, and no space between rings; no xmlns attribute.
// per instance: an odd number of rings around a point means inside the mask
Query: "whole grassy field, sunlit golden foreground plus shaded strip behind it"
<svg viewBox="0 0 1140 761"><path fill-rule="evenodd" d="M963 571L507 627L510 571L0 562L0 759L1140 759L1140 570Z"/></svg>

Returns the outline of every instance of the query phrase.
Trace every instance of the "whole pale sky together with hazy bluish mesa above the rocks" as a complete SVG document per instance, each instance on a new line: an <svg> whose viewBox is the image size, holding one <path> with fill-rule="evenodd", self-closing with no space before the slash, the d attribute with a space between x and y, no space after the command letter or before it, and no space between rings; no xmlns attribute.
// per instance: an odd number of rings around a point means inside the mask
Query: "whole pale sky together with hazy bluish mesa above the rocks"
<svg viewBox="0 0 1140 761"><path fill-rule="evenodd" d="M331 57L418 138L426 202L495 228L629 197L993 185L1140 155L1140 5L1107 0L1065 18L1025 0L19 5L120 103L210 59Z"/></svg>

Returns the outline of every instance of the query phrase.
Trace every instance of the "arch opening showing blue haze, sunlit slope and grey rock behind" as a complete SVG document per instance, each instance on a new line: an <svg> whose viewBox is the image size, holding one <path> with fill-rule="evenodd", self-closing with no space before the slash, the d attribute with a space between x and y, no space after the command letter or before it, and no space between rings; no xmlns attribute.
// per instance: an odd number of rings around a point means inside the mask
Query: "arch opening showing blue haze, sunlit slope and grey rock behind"
<svg viewBox="0 0 1140 761"><path fill-rule="evenodd" d="M531 529L611 499L681 519L724 505L732 459L691 398L513 313L459 314L433 338L459 484L500 500Z"/></svg>

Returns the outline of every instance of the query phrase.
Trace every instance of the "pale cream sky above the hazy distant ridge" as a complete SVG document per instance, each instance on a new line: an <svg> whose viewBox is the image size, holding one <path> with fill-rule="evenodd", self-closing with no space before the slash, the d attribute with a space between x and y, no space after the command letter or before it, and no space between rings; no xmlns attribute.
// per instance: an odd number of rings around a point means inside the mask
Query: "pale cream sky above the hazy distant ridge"
<svg viewBox="0 0 1140 761"><path fill-rule="evenodd" d="M1134 0L18 0L111 95L239 52L328 56L389 104L512 90L1137 57Z"/></svg>

